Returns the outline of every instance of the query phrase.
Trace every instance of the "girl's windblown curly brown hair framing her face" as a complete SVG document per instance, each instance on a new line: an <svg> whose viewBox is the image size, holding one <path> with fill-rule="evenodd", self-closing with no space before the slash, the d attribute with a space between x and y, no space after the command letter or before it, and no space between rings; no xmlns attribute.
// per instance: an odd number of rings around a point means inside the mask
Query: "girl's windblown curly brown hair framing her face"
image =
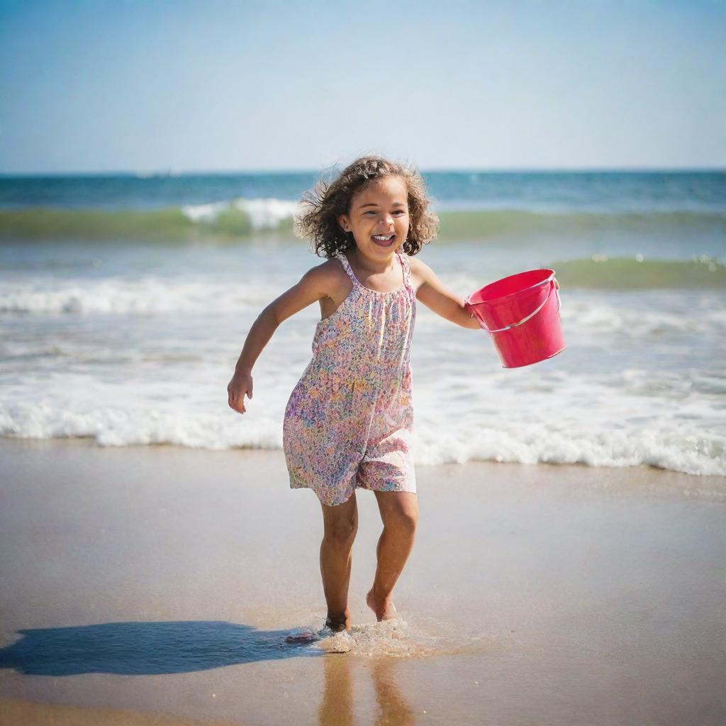
<svg viewBox="0 0 726 726"><path fill-rule="evenodd" d="M353 232L344 232L338 217L350 212L354 195L387 176L403 179L408 192L409 233L403 250L407 255L420 252L439 231L439 217L428 210L424 181L415 169L379 156L362 156L346 166L334 181L321 179L314 191L305 192L301 211L295 216L295 235L310 237L311 251L319 257L330 259L339 250L353 248Z"/></svg>

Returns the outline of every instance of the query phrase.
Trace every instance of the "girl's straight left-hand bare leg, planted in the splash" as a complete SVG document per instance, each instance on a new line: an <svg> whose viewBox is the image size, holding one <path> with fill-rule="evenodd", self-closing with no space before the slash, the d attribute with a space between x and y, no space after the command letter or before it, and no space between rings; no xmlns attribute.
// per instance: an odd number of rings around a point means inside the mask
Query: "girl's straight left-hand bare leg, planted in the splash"
<svg viewBox="0 0 726 726"><path fill-rule="evenodd" d="M348 583L351 580L351 549L358 531L355 492L344 504L329 507L321 503L325 532L320 544L320 573L327 603L330 629L349 630Z"/></svg>

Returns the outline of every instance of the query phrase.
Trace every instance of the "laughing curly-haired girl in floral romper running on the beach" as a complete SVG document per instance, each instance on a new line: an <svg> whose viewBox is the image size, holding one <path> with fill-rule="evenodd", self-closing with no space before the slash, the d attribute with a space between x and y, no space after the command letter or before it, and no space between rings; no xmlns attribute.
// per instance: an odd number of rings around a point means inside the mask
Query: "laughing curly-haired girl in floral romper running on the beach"
<svg viewBox="0 0 726 726"><path fill-rule="evenodd" d="M479 330L464 301L446 290L413 256L436 235L423 179L386 159L366 156L328 185L303 195L295 223L327 261L272 301L248 333L229 406L245 413L252 367L277 326L320 303L313 357L287 401L283 448L290 487L308 487L322 506L320 571L325 625L350 629L348 582L356 536L356 489L378 500L383 534L367 603L376 618L393 619L391 593L413 546L418 516L409 448L413 426L409 367L416 300L445 319Z"/></svg>

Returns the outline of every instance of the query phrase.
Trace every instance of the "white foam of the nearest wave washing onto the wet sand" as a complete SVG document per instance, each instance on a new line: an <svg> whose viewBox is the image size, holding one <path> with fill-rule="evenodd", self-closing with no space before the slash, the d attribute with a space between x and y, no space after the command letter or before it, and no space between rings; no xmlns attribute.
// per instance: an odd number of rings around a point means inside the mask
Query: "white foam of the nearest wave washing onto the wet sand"
<svg viewBox="0 0 726 726"><path fill-rule="evenodd" d="M720 420L722 427L718 404L693 394L690 386L665 397L643 396L643 374L626 371L599 383L573 375L566 380L527 380L522 386L510 381L507 388L499 388L494 376L486 395L474 388L457 394L452 383L419 380L415 460L420 465L472 460L651 465L726 475L726 436L708 425L709 420ZM166 382L107 383L70 373L49 379L28 374L0 404L0 434L36 439L83 436L102 446L282 447L286 383L274 386L266 376L258 376L259 392L247 402L248 414L240 417L223 400L224 371L203 368L186 375L179 383L173 377ZM619 391L621 385L625 391ZM583 405L584 391L588 400ZM673 397L680 399L677 407L669 403ZM442 399L449 401L447 407L436 405Z"/></svg>

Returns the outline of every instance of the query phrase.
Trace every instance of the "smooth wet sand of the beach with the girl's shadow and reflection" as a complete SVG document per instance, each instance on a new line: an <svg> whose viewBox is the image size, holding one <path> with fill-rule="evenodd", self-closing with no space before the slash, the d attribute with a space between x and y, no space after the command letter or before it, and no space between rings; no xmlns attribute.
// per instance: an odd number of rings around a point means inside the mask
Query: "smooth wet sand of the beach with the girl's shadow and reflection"
<svg viewBox="0 0 726 726"><path fill-rule="evenodd" d="M0 440L0 723L726 721L723 478L417 477L401 620L364 603L381 525L359 492L354 629L301 646L322 515L282 452Z"/></svg>

